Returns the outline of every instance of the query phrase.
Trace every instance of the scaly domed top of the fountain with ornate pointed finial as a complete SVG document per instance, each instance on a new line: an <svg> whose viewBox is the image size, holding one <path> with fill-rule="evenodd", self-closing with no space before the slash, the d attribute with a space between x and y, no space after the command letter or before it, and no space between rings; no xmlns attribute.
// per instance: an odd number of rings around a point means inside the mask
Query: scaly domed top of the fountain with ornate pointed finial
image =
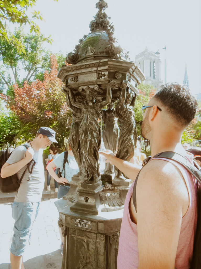
<svg viewBox="0 0 201 269"><path fill-rule="evenodd" d="M98 12L89 24L91 33L79 39L74 52L66 57L67 63L76 64L86 59L101 57L130 61L128 52L123 50L114 36L114 25L110 23L110 17L104 12L108 4L104 0L96 3Z"/></svg>

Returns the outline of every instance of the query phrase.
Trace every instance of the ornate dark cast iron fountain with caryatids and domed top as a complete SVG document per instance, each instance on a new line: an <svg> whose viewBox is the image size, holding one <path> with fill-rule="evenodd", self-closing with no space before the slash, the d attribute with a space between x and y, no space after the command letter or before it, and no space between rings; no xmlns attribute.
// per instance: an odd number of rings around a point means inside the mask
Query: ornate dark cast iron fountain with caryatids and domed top
<svg viewBox="0 0 201 269"><path fill-rule="evenodd" d="M55 202L64 235L62 269L116 268L118 238L131 180L107 164L100 176L98 150L103 141L117 157L134 155L137 130L133 107L144 75L114 36L114 26L100 0L91 33L84 35L66 58L58 77L72 110L70 141L79 173L67 196ZM103 185L104 182L104 185Z"/></svg>

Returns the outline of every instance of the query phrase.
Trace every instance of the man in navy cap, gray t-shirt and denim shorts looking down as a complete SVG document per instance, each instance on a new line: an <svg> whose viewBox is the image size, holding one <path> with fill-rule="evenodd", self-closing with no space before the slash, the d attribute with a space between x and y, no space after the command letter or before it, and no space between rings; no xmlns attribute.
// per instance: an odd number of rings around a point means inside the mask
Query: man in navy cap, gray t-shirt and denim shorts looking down
<svg viewBox="0 0 201 269"><path fill-rule="evenodd" d="M23 145L16 147L1 169L2 178L17 174L17 178L20 179L25 171L12 204L12 217L15 220L10 247L12 269L24 269L23 253L31 236L33 222L38 215L44 188L42 154L53 142L57 143L55 132L48 127L41 127L34 140L26 143L28 148Z"/></svg>

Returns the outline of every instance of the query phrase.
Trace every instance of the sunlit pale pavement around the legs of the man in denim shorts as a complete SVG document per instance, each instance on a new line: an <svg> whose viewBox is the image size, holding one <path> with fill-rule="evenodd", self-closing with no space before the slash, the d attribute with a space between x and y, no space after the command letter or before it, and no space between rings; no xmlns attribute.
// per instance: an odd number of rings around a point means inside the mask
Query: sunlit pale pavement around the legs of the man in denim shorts
<svg viewBox="0 0 201 269"><path fill-rule="evenodd" d="M23 260L26 269L61 268L60 234L58 217L54 201L42 199L38 217L33 225L32 238L24 252ZM0 203L0 269L11 269L10 245L13 235L11 203Z"/></svg>

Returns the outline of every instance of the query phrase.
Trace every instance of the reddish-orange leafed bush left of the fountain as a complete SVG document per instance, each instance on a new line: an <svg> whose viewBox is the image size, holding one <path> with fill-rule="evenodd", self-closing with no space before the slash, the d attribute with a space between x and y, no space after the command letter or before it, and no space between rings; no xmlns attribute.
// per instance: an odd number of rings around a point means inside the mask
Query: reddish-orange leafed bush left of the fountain
<svg viewBox="0 0 201 269"><path fill-rule="evenodd" d="M53 128L61 146L69 135L72 116L62 92L63 83L57 77L57 68L56 58L52 55L51 70L49 73L45 71L43 81L36 79L30 84L25 81L21 88L16 83L14 99L5 94L1 97L29 133L35 134L41 126Z"/></svg>

